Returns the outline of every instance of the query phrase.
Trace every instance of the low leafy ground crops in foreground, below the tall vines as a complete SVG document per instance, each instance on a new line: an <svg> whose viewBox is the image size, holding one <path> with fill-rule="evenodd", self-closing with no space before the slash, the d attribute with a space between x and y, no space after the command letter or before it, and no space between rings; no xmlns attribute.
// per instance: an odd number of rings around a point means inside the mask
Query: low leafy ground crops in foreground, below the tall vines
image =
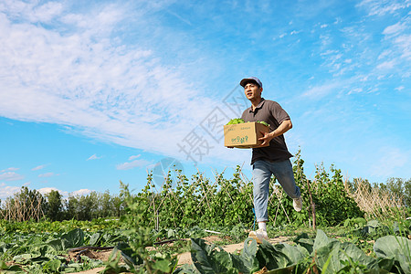
<svg viewBox="0 0 411 274"><path fill-rule="evenodd" d="M3 222L1 267L4 273L408 273L409 222L408 228L362 224L351 220L350 227L316 232L269 227L270 241L257 245L238 227L222 234L195 227L132 237L118 220ZM135 253L139 240L144 250Z"/></svg>

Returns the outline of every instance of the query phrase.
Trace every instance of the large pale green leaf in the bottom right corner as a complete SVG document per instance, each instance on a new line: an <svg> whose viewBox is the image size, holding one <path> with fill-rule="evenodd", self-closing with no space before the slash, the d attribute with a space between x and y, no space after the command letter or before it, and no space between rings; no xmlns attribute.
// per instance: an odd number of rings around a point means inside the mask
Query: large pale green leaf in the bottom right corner
<svg viewBox="0 0 411 274"><path fill-rule="evenodd" d="M394 258L397 269L411 273L411 240L406 237L380 237L375 241L374 252L380 258Z"/></svg>

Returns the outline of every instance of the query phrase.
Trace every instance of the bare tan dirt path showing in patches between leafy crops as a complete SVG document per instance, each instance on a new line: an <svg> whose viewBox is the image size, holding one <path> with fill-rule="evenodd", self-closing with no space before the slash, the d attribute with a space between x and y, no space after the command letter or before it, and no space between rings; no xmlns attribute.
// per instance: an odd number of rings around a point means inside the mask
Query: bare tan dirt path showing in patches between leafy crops
<svg viewBox="0 0 411 274"><path fill-rule="evenodd" d="M279 243L285 243L289 240L290 237L273 237L269 239L269 242L273 245L279 244ZM219 237L205 237L205 241L209 243L216 242L217 240L221 240ZM238 244L233 244L233 245L227 245L227 246L220 246L224 250L230 253L234 253L236 251L240 251L244 246L244 243L238 243ZM111 250L107 251L97 251L97 252L90 252L90 254L87 254L90 258L100 258L101 260L107 260L111 254ZM178 265L184 265L184 264L192 264L193 261L191 260L191 253L190 252L185 252L180 255L178 255ZM99 271L104 269L102 268L97 268L97 269L90 269L90 270L85 270L81 272L76 272L76 273L81 273L81 274L97 274ZM75 274L75 273L68 273L68 274Z"/></svg>

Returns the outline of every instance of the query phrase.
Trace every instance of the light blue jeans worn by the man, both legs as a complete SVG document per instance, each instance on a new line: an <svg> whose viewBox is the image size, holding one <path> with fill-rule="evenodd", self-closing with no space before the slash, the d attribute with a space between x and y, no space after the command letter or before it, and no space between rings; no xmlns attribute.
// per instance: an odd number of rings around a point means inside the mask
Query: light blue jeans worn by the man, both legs
<svg viewBox="0 0 411 274"><path fill-rule="evenodd" d="M287 195L291 198L300 197L300 187L295 184L290 159L273 163L264 160L256 161L253 164L253 195L258 222L267 222L269 220L269 180L271 174L276 176L277 181Z"/></svg>

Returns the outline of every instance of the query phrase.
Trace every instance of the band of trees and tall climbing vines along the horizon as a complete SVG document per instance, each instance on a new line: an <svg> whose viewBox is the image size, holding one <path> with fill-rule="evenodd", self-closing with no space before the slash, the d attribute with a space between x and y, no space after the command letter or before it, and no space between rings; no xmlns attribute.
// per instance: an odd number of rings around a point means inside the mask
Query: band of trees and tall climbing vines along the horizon
<svg viewBox="0 0 411 274"><path fill-rule="evenodd" d="M375 196L378 199L385 193L388 194L388 200L400 200L404 212L411 215L411 179L390 178L385 184L371 184L363 179L349 182L342 180L340 170L332 166L330 171L326 171L320 165L317 166L315 178L309 180L303 172L303 163L299 153L293 169L297 183L302 186L306 210L295 214L290 209L292 203L286 195L273 195L269 215L273 217L274 223L303 223L311 219L311 203L315 205L319 225L335 226L344 218L364 216L366 212L364 209L360 210L360 203L356 199L359 186L363 192L376 193L374 196L364 195L366 200L370 200L366 197L374 199ZM163 220L163 226L178 223L188 226L193 222L201 224L220 220L216 225L221 226L253 219L252 184L243 180L239 166L232 178L224 179L219 174L214 183L203 174L195 174L191 179L179 174L178 178L178 182L171 182L171 176L167 177L163 189L157 192L153 191L153 175L149 174L147 185L140 193L133 195L139 205L146 207L147 216L155 216L155 227L162 226L159 220ZM278 188L275 183L275 178L272 178L273 190ZM307 188L309 184L312 187L311 197ZM374 192L375 189L377 192ZM15 221L92 220L99 217L119 217L124 213L123 197L111 195L109 190L104 193L92 191L87 195L68 195L65 198L56 190L42 195L36 189L23 186L20 192L4 201L0 200L0 218ZM196 220L200 216L202 219ZM148 220L153 225L153 218L148 217Z"/></svg>

